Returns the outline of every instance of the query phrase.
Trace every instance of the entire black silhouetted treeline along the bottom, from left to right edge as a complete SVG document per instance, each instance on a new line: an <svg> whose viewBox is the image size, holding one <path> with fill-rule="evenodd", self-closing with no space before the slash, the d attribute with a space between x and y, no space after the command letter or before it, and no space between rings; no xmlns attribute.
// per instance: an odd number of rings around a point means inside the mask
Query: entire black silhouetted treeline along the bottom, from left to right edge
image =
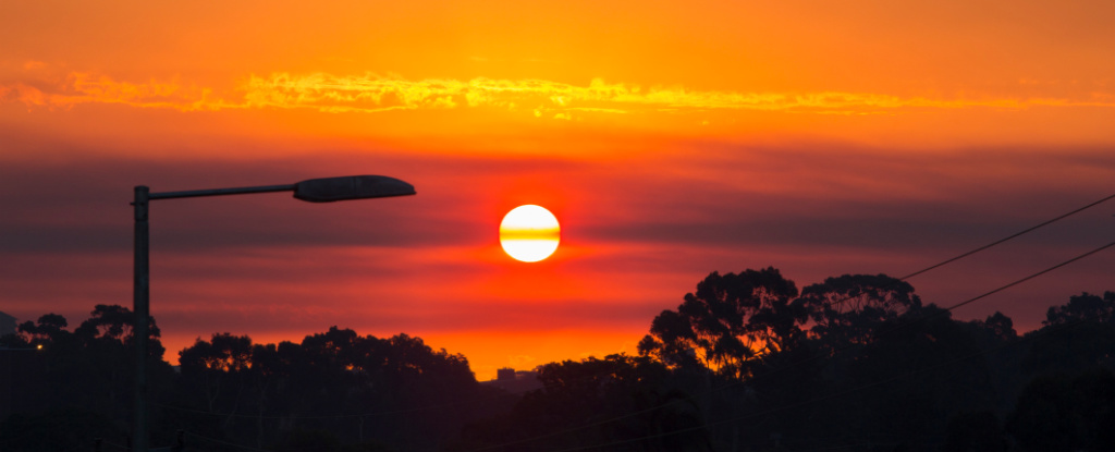
<svg viewBox="0 0 1115 452"><path fill-rule="evenodd" d="M43 346L0 450L126 443L129 319L98 306L72 333L47 315L0 339ZM798 290L774 268L714 272L655 317L638 356L540 366L542 390L523 395L406 335L219 334L175 373L152 330L154 444L183 431L184 450L1115 450L1111 291L1070 297L1019 336L1002 314L956 320L882 275Z"/></svg>

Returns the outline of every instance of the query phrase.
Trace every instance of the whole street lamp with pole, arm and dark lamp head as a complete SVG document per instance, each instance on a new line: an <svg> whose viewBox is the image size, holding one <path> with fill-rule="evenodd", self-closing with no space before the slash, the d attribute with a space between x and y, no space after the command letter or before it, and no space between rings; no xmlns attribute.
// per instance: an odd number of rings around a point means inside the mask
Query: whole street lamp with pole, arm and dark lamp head
<svg viewBox="0 0 1115 452"><path fill-rule="evenodd" d="M151 193L146 185L135 187L135 286L133 309L136 319L133 338L136 343L135 414L132 450L147 452L147 339L151 321L151 234L147 227L147 204L152 200L174 198L222 196L269 192L294 192L294 198L307 202L333 202L369 198L405 196L415 194L415 187L398 179L380 175L311 179L288 185L244 186L236 189L193 190L184 192Z"/></svg>

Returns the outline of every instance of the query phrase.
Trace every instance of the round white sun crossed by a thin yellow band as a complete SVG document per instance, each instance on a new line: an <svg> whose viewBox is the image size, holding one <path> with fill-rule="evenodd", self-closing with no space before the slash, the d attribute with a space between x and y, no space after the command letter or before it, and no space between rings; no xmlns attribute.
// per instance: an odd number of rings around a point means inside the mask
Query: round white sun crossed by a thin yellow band
<svg viewBox="0 0 1115 452"><path fill-rule="evenodd" d="M549 258L558 250L560 240L558 218L541 205L512 209L500 223L500 244L507 256L523 262Z"/></svg>

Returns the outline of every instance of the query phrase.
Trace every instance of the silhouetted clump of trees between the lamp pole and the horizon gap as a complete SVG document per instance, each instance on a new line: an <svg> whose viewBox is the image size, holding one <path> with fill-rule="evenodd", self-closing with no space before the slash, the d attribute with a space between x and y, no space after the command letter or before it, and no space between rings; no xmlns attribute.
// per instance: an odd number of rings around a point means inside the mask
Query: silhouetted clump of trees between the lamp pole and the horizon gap
<svg viewBox="0 0 1115 452"><path fill-rule="evenodd" d="M253 448L301 429L343 444L375 439L429 449L484 412L471 404L479 388L467 359L407 335L380 339L331 327L301 344L254 345L225 333L198 339L180 363L181 391L192 395L180 403L194 401L219 431L237 432L233 439Z"/></svg>

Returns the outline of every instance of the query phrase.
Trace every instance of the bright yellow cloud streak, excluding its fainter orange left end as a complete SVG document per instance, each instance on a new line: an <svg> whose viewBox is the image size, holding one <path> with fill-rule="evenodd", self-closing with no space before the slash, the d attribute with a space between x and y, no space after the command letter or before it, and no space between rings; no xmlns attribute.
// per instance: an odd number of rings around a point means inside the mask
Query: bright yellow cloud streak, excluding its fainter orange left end
<svg viewBox="0 0 1115 452"><path fill-rule="evenodd" d="M1088 99L987 98L933 99L870 93L734 93L683 87L642 88L593 79L589 85L551 80L407 80L329 74L272 74L252 76L244 85L252 107L317 108L323 112L378 112L384 109L498 107L539 105L539 109L604 113L686 113L717 109L782 110L822 114L871 114L919 108L989 107L1019 109L1031 106L1113 107L1109 95Z"/></svg>

